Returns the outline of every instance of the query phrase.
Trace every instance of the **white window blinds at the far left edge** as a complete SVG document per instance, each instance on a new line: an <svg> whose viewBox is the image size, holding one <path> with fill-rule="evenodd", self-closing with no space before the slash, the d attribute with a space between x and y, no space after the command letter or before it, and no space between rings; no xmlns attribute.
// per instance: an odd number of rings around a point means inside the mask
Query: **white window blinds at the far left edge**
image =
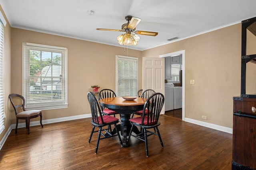
<svg viewBox="0 0 256 170"><path fill-rule="evenodd" d="M0 133L4 130L4 27L0 23Z"/></svg>

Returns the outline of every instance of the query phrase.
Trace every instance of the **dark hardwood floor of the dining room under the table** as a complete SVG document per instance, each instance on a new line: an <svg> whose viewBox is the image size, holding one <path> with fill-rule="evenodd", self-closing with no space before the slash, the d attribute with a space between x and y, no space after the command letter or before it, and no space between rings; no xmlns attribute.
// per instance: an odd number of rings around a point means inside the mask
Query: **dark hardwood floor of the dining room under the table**
<svg viewBox="0 0 256 170"><path fill-rule="evenodd" d="M129 147L118 137L100 141L88 138L90 118L44 124L44 127L14 129L0 150L1 170L230 170L232 134L161 115L161 147L157 136L148 137L149 157L144 142L132 138ZM121 137L122 138L122 137Z"/></svg>

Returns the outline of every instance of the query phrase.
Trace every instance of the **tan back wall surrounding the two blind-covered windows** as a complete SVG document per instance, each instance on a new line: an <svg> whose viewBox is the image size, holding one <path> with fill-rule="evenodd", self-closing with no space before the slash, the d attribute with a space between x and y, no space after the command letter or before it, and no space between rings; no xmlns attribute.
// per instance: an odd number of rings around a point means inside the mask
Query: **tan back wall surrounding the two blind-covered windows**
<svg viewBox="0 0 256 170"><path fill-rule="evenodd" d="M99 90L115 91L116 55L127 56L123 47L12 28L12 92L18 94L22 94L22 42L68 48L68 108L44 110L43 119L89 114L87 92L92 91L90 86L98 84ZM141 51L128 51L130 57L137 57L139 64L142 63ZM139 68L139 80L141 71ZM141 86L139 83L139 88ZM15 120L13 113L11 123L16 123Z"/></svg>

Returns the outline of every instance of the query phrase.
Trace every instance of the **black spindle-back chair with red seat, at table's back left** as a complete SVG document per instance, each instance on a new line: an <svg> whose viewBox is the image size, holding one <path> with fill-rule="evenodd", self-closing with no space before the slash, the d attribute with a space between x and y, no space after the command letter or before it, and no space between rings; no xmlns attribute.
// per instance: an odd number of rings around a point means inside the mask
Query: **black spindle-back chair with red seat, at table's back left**
<svg viewBox="0 0 256 170"><path fill-rule="evenodd" d="M116 97L116 94L113 90L110 90L110 89L103 89L99 92L98 94L98 100L102 100L104 98L111 98L111 97ZM114 117L116 117L116 114L118 114L116 111L112 111L110 109L108 109L107 107L103 107L103 106L100 106L101 107L101 113L103 115L114 115Z"/></svg>

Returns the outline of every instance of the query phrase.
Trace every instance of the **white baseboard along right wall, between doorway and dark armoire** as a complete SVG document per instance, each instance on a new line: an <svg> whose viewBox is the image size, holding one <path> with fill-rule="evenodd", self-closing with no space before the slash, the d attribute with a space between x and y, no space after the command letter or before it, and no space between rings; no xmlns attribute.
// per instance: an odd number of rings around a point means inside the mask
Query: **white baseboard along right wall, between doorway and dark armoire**
<svg viewBox="0 0 256 170"><path fill-rule="evenodd" d="M215 129L215 130L218 130L218 131L222 131L222 132L233 134L233 129L229 128L229 127L215 125L215 124L212 124L212 123L207 123L207 122L204 122L204 121L198 121L198 120L190 119L190 118L186 118L186 117L185 117L184 121L189 122L189 123L194 123L196 125L208 127L208 128L211 128L211 129Z"/></svg>

